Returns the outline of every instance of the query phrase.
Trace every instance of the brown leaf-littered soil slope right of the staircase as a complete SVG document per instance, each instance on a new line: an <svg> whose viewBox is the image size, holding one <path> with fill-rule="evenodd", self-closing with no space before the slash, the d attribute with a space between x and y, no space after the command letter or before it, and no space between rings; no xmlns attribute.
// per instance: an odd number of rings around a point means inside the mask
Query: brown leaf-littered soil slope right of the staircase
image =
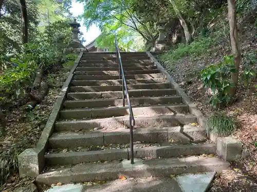
<svg viewBox="0 0 257 192"><path fill-rule="evenodd" d="M252 25L252 24L251 24ZM240 26L240 38L242 52L257 50L256 29L248 23ZM248 26L248 27L246 27ZM218 52L198 58L185 57L176 62L169 70L169 64L161 63L171 74L179 86L194 101L199 110L208 117L214 111L209 106L210 94L204 88L200 80L200 71L210 64L221 61L225 54L230 54L230 42L225 37L221 40ZM217 48L213 48L213 50ZM156 56L158 59L158 55ZM159 59L158 59L159 60ZM257 69L257 63L254 66ZM257 79L245 87L243 82L238 85L235 102L225 109L227 114L235 117L240 122L240 129L233 133L233 137L240 139L244 147L250 152L250 157L231 162L231 167L222 173L218 173L209 192L230 191L257 191Z"/></svg>

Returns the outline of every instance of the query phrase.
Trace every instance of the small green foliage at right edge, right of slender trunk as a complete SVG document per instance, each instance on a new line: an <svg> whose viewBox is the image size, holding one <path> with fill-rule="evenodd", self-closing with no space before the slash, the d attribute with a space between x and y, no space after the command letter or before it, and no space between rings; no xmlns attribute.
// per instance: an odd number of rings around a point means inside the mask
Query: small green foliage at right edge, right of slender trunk
<svg viewBox="0 0 257 192"><path fill-rule="evenodd" d="M248 86L252 79L256 77L256 72L253 67L257 63L257 51L244 54L241 63L243 69L241 80L244 82L245 86Z"/></svg>

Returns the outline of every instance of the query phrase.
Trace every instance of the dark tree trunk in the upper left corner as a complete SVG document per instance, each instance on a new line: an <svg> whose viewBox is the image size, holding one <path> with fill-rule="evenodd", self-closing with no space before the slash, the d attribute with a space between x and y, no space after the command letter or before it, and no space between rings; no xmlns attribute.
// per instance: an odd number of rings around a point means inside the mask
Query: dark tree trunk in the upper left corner
<svg viewBox="0 0 257 192"><path fill-rule="evenodd" d="M28 42L28 14L27 14L27 6L26 6L26 0L20 0L20 6L21 6L21 15L22 15L22 23L23 23L23 44L26 44Z"/></svg>

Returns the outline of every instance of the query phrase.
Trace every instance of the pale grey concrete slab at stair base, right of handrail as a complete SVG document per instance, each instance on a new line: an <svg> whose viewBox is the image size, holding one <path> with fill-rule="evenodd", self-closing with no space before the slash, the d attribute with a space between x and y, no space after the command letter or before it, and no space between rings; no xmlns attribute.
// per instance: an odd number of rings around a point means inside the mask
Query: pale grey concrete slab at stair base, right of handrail
<svg viewBox="0 0 257 192"><path fill-rule="evenodd" d="M216 172L206 172L201 174L187 174L177 176L176 180L182 189L182 192L205 192Z"/></svg>

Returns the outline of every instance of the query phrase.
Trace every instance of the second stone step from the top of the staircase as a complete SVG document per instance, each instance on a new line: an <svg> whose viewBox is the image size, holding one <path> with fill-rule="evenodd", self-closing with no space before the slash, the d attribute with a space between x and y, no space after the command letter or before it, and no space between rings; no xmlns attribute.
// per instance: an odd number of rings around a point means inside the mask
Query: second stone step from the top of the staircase
<svg viewBox="0 0 257 192"><path fill-rule="evenodd" d="M144 56L121 56L121 61L122 60L149 60L149 57L147 55L144 55ZM117 60L117 57L116 55L113 56L113 57L109 57L109 56L104 56L104 55L101 55L101 56L82 56L81 57L81 61L83 60L114 60L116 61Z"/></svg>

